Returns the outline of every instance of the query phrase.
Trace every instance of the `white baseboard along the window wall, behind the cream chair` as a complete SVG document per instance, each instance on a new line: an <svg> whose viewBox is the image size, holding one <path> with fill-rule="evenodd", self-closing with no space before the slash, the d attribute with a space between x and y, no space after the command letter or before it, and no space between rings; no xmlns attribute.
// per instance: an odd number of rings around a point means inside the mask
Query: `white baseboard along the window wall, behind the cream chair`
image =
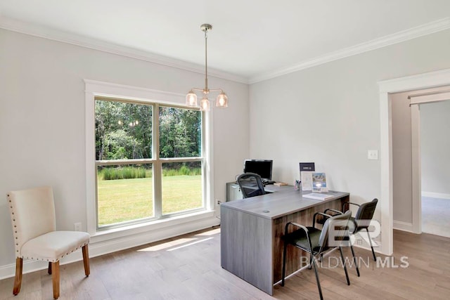
<svg viewBox="0 0 450 300"><path fill-rule="evenodd" d="M118 237L114 240L103 240L99 242L89 243L89 257L101 256L112 252L117 252L123 249L129 249L137 247L142 244L148 244L150 242L156 242L158 240L164 240L169 237L176 237L177 235L184 235L186 233L192 233L196 230L210 228L212 226L219 225L220 220L215 216L203 220L196 220L193 222L184 223L181 226L171 226L167 228L160 228L158 230L147 231L138 233L135 235L129 235L124 237ZM75 261L82 261L83 256L81 249L63 257L60 260L60 264L73 263ZM37 270L44 270L48 268L49 264L45 261L23 261L23 273L31 273ZM4 278L10 278L15 275L15 263L9 265L0 266L0 280ZM11 290L12 290L11 286Z"/></svg>

